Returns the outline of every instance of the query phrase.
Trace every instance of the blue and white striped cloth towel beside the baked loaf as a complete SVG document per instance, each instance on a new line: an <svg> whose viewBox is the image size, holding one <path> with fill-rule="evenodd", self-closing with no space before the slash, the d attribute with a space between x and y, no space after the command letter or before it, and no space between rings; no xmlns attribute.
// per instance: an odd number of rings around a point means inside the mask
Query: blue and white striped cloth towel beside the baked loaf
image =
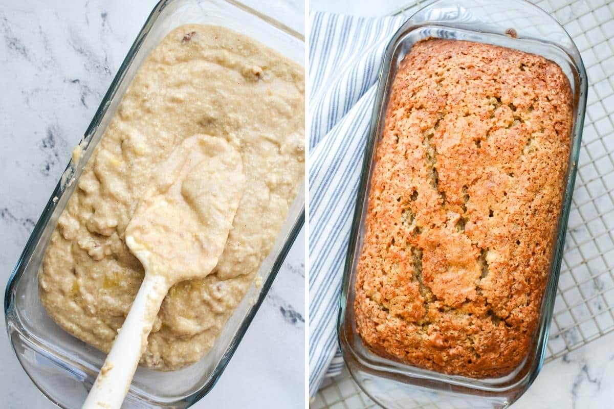
<svg viewBox="0 0 614 409"><path fill-rule="evenodd" d="M406 17L312 13L309 395L341 372L336 313L379 67Z"/></svg>

